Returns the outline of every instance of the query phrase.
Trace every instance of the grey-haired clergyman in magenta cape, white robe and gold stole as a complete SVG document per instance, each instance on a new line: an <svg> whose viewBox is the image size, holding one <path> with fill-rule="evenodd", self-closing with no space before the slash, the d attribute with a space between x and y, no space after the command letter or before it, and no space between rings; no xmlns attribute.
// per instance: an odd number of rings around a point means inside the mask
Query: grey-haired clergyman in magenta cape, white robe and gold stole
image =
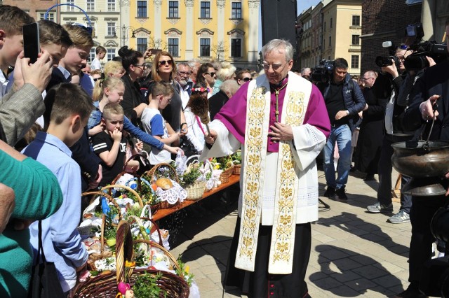
<svg viewBox="0 0 449 298"><path fill-rule="evenodd" d="M265 74L243 85L210 122L201 157L242 150L225 283L249 297L307 297L310 222L318 220L315 159L330 122L318 88L290 72L288 41L270 41L262 55Z"/></svg>

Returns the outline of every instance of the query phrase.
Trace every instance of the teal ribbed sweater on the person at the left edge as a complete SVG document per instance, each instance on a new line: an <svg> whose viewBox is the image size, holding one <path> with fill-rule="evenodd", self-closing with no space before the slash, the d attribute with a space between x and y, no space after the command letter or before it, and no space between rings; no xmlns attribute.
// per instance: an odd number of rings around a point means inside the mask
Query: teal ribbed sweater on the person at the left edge
<svg viewBox="0 0 449 298"><path fill-rule="evenodd" d="M62 204L56 177L46 166L29 157L19 162L0 150L0 183L15 192L11 218L48 218ZM16 231L8 225L0 234L0 297L27 297L32 257L29 229Z"/></svg>

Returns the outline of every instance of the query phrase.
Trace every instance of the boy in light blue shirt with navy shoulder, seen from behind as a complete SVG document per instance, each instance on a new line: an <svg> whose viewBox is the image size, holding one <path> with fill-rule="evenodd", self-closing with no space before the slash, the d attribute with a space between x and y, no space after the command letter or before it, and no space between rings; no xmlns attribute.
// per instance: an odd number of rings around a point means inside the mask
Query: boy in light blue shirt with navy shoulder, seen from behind
<svg viewBox="0 0 449 298"><path fill-rule="evenodd" d="M83 135L93 104L81 87L62 83L48 90L43 114L46 132L37 132L23 153L50 169L58 178L64 201L51 217L42 220L43 252L54 262L62 290L68 294L76 284L76 272L83 269L88 253L76 227L81 218L80 167L69 149ZM29 227L36 259L38 222Z"/></svg>

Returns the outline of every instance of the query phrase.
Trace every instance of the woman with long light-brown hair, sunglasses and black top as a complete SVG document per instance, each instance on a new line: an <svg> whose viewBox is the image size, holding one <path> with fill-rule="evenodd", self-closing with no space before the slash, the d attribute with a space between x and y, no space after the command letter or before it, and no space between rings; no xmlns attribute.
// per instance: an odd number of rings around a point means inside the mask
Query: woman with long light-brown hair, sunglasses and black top
<svg viewBox="0 0 449 298"><path fill-rule="evenodd" d="M175 76L176 64L173 56L164 50L158 52L153 60L152 78L155 82L170 83L175 89L175 94L173 94L170 104L163 109L162 116L175 131L180 129L183 134L186 134L187 124L182 112L181 86L175 80ZM147 94L151 94L151 87L151 85L148 87Z"/></svg>

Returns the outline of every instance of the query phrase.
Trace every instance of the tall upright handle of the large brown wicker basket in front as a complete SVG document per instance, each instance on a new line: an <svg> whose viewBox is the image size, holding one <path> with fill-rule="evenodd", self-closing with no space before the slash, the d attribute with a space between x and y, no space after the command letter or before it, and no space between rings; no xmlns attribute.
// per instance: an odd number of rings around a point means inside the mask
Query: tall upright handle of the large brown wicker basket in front
<svg viewBox="0 0 449 298"><path fill-rule="evenodd" d="M126 220L119 222L116 236L116 281L117 285L120 282L126 283L125 280L125 262L133 262L133 236L131 235L130 225ZM133 273L133 268L130 268L129 276Z"/></svg>

